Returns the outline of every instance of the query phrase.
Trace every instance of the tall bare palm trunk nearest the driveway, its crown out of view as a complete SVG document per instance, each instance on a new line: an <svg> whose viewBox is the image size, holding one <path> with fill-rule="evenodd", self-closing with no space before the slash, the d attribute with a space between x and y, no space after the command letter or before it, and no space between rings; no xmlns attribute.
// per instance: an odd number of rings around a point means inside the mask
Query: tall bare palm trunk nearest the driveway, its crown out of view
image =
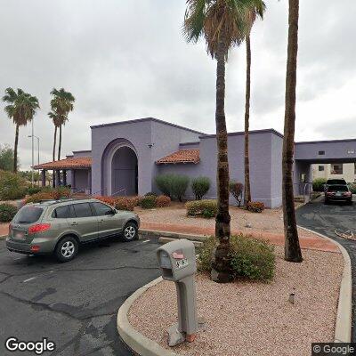
<svg viewBox="0 0 356 356"><path fill-rule="evenodd" d="M286 112L283 138L283 220L285 231L285 260L300 263L303 261L299 246L295 220L295 200L293 192L293 157L295 149L295 87L296 59L298 54L299 0L289 0L289 28L286 76Z"/></svg>

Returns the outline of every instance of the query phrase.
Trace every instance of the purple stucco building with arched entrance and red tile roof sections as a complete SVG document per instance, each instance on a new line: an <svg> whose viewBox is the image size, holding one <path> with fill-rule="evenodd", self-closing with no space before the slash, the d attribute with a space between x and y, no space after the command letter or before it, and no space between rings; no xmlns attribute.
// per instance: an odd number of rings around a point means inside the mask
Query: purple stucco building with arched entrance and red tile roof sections
<svg viewBox="0 0 356 356"><path fill-rule="evenodd" d="M61 169L73 190L93 195L132 196L158 192L158 174L207 176L211 188L205 198L216 198L216 137L147 117L93 125L92 150L74 151L56 162L36 166ZM252 199L265 206L281 205L283 136L273 129L250 131ZM244 182L244 134L228 136L231 180ZM295 143L295 192L312 180L312 163L356 160L356 139ZM187 198L193 198L191 190ZM231 204L234 201L231 197Z"/></svg>

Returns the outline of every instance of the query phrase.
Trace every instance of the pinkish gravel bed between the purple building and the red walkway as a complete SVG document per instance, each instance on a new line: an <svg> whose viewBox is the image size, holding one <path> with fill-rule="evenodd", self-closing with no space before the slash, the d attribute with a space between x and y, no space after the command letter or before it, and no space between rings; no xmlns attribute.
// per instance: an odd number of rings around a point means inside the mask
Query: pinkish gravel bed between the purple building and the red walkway
<svg viewBox="0 0 356 356"><path fill-rule="evenodd" d="M214 228L214 219L204 219L186 216L186 210L182 203L172 203L172 206L157 209L135 208L135 212L140 215L144 223L174 223L199 228ZM269 232L273 234L283 234L282 209L265 209L263 213L250 213L237 206L230 206L231 230L245 233L259 234ZM252 228L247 228L250 223ZM303 236L314 236L311 232L299 231Z"/></svg>

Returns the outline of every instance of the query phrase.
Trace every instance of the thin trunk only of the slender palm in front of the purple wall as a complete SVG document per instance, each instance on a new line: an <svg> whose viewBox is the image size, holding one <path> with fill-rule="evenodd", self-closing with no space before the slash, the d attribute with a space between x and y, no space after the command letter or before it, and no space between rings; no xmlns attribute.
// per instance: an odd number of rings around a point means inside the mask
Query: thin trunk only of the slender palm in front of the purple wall
<svg viewBox="0 0 356 356"><path fill-rule="evenodd" d="M251 43L250 36L246 37L246 101L245 101L245 192L244 192L244 206L251 201L251 187L250 187L250 159L248 152L248 129L250 120L250 97L251 97Z"/></svg>

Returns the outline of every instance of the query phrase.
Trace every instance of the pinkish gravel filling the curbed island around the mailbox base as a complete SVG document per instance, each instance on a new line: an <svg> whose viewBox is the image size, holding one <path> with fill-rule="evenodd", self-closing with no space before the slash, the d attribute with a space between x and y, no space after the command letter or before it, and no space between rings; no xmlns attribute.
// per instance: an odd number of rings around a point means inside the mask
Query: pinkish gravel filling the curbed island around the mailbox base
<svg viewBox="0 0 356 356"><path fill-rule="evenodd" d="M174 347L174 352L309 356L312 342L332 342L342 255L303 250L303 263L287 263L282 247L276 247L276 254L276 277L270 284L221 285L198 275L198 315L206 318L206 330L194 343ZM293 291L295 304L287 302ZM168 348L166 329L176 322L174 283L150 288L134 303L129 320L143 335Z"/></svg>

